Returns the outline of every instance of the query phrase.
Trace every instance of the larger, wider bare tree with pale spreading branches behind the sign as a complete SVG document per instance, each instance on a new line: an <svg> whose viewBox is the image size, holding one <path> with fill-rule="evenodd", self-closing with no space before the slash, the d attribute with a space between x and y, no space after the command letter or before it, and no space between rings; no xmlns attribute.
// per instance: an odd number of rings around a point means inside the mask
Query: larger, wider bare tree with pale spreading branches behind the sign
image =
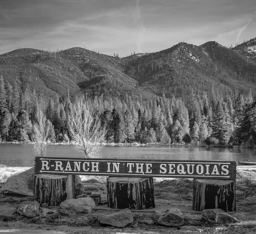
<svg viewBox="0 0 256 234"><path fill-rule="evenodd" d="M75 102L70 103L67 126L76 150L87 158L100 157L99 150L103 147L106 128L102 126L99 116L93 116L84 96L76 97Z"/></svg>

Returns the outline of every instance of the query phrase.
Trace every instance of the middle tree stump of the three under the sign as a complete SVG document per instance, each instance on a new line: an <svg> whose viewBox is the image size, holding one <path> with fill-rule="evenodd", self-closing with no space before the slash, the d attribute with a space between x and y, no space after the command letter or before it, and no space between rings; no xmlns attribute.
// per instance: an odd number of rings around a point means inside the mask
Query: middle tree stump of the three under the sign
<svg viewBox="0 0 256 234"><path fill-rule="evenodd" d="M143 210L154 208L153 178L108 177L108 207Z"/></svg>

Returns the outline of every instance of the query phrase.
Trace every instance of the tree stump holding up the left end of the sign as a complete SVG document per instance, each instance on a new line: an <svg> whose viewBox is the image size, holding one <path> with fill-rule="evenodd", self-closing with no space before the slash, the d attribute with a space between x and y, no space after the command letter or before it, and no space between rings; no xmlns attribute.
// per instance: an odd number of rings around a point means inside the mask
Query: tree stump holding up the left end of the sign
<svg viewBox="0 0 256 234"><path fill-rule="evenodd" d="M74 198L73 175L38 174L35 176L34 199L40 204L58 206L66 199Z"/></svg>

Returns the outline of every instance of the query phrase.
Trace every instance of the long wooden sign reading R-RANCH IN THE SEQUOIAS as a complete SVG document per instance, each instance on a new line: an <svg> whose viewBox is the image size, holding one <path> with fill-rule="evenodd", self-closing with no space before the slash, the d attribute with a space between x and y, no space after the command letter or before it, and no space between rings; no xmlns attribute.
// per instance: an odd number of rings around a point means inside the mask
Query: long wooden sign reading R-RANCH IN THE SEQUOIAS
<svg viewBox="0 0 256 234"><path fill-rule="evenodd" d="M35 157L36 174L236 179L236 162Z"/></svg>

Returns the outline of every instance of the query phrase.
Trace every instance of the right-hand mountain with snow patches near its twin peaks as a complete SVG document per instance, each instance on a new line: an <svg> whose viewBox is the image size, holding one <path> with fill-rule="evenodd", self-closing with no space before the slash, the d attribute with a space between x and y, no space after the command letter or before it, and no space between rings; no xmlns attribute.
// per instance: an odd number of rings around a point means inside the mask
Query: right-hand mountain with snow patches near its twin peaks
<svg viewBox="0 0 256 234"><path fill-rule="evenodd" d="M256 52L251 53L251 56ZM256 89L256 64L235 49L211 41L201 46L179 43L169 49L123 59L125 73L142 87L166 97L184 96L193 88L202 93L209 84L224 92L235 87L239 92Z"/></svg>

